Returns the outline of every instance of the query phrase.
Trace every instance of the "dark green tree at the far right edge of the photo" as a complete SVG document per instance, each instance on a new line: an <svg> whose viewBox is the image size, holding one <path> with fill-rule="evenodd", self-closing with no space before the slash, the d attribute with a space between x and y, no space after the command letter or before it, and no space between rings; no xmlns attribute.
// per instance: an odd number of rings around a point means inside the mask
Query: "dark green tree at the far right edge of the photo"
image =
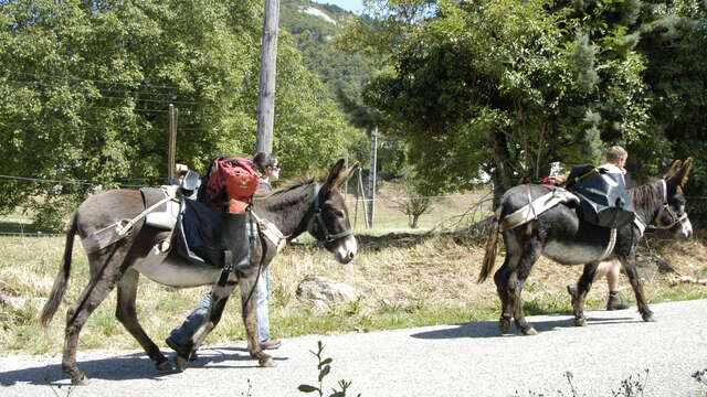
<svg viewBox="0 0 707 397"><path fill-rule="evenodd" d="M631 146L636 173L656 175L673 159L698 159L688 184L693 195L707 193L707 6L704 1L647 1L637 51L647 58L648 139ZM631 157L630 157L631 161Z"/></svg>

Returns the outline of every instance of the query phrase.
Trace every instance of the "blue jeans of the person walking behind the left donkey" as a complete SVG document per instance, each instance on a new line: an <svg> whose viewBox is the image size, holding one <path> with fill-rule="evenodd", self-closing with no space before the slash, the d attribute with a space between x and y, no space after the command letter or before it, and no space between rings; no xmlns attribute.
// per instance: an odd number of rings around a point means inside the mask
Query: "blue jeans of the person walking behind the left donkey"
<svg viewBox="0 0 707 397"><path fill-rule="evenodd" d="M261 336L261 343L270 341L270 313L267 310L267 301L270 300L270 269L265 269L257 280L253 299L257 311L257 332ZM184 322L173 329L169 335L179 344L187 344L197 333L199 326L205 321L211 305L211 292L197 304L194 310L187 315Z"/></svg>

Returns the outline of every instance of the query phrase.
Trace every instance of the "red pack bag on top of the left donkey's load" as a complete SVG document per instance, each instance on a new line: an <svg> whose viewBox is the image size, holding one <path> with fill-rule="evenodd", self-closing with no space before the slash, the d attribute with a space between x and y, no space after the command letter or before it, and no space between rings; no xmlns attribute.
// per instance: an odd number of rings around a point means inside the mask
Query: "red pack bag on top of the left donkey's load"
<svg viewBox="0 0 707 397"><path fill-rule="evenodd" d="M242 214L258 183L255 164L250 159L219 158L211 167L203 202L213 210Z"/></svg>

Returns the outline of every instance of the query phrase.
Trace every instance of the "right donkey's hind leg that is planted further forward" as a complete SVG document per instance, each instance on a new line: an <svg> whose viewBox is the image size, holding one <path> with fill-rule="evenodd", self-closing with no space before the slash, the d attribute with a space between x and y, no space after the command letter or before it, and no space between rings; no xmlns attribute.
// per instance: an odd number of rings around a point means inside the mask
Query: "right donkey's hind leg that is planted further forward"
<svg viewBox="0 0 707 397"><path fill-rule="evenodd" d="M518 265L510 272L510 277L508 277L508 296L513 304L511 308L514 312L515 323L518 330L520 330L524 335L538 334L535 328L526 320L523 310L523 299L520 298L520 294L523 293L523 287L525 286L526 279L530 275L532 266L540 257L540 253L541 244L534 230L532 235L529 236L523 245L523 254L520 255Z"/></svg>

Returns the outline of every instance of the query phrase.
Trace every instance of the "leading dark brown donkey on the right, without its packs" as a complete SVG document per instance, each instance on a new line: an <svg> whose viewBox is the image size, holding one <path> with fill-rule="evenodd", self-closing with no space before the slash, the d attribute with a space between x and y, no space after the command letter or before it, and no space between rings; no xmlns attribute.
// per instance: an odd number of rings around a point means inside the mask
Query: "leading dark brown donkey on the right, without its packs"
<svg viewBox="0 0 707 397"><path fill-rule="evenodd" d="M597 266L600 260L612 258L621 260L636 296L639 312L643 320L654 321L653 312L643 293L641 278L636 272L636 247L646 225L673 229L678 238L690 238L693 228L685 213L683 186L692 168L693 159L687 159L685 162L677 160L663 179L629 190L629 197L639 221L616 229L615 244L609 253L606 250L608 247L611 248L610 229L583 222L577 216L574 210L564 204L556 205L539 214L535 221L505 230L503 237L506 244L506 259L494 275L502 303L498 323L500 331L508 332L513 318L516 326L524 334L537 333L526 321L520 293L540 255L562 265L584 265L584 271L578 283L578 297L572 299L576 325L587 325L584 299L592 286ZM511 187L500 198L498 222L528 204L528 198L535 200L551 192L552 189L555 187L548 185ZM479 281L488 277L496 259L498 223L494 226L488 236Z"/></svg>

